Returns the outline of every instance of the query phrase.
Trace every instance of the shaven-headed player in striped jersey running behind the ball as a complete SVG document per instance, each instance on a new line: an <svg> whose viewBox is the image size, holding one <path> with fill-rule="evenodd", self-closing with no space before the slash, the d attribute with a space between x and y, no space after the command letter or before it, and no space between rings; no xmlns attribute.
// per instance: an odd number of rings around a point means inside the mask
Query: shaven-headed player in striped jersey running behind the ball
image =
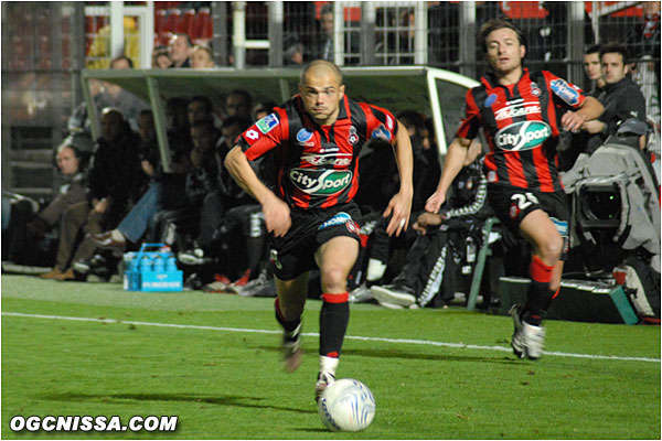
<svg viewBox="0 0 662 441"><path fill-rule="evenodd" d="M406 128L388 110L344 95L342 74L327 61L303 68L299 94L246 130L225 165L261 205L271 234L276 278L276 319L284 327L285 367L301 363L301 314L308 272L320 269L320 372L316 399L333 383L350 306L346 279L359 255L360 215L353 202L359 185L359 153L371 138L395 147L401 187L384 211L386 232L398 236L409 222L412 144ZM278 173L271 191L252 162L271 151ZM378 173L377 170L374 171Z"/></svg>

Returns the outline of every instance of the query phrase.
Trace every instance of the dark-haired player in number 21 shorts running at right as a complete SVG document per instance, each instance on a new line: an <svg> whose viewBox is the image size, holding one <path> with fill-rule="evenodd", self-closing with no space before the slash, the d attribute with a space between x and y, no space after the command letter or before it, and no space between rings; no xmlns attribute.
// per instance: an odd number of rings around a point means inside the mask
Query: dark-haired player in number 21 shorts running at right
<svg viewBox="0 0 662 441"><path fill-rule="evenodd" d="M483 24L479 40L491 67L466 96L466 115L448 148L444 171L426 209L436 213L456 178L471 139L484 130L488 202L499 219L532 245L526 302L510 310L511 345L520 357L542 355L542 321L558 294L568 247L568 206L558 178L556 143L560 130L576 131L597 118L602 106L554 74L522 67L522 32L504 20Z"/></svg>

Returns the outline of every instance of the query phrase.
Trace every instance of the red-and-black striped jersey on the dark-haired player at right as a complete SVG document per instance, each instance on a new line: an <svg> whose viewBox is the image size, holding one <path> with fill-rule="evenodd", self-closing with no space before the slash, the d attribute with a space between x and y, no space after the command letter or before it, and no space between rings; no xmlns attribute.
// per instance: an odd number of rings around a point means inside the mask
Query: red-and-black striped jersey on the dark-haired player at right
<svg viewBox="0 0 662 441"><path fill-rule="evenodd" d="M508 86L485 75L480 86L467 92L466 115L456 136L473 139L483 128L490 146L484 160L488 182L560 191L560 117L585 99L578 87L547 71L530 74L524 68L520 80Z"/></svg>

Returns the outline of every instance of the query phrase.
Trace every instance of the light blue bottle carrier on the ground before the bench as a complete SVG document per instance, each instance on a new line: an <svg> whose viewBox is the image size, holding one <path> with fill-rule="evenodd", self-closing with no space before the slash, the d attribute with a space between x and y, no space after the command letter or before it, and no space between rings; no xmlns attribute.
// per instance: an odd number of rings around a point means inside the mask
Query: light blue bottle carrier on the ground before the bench
<svg viewBox="0 0 662 441"><path fill-rule="evenodd" d="M164 244L142 244L138 252L126 252L124 260L126 291L181 291L183 288L183 273Z"/></svg>

